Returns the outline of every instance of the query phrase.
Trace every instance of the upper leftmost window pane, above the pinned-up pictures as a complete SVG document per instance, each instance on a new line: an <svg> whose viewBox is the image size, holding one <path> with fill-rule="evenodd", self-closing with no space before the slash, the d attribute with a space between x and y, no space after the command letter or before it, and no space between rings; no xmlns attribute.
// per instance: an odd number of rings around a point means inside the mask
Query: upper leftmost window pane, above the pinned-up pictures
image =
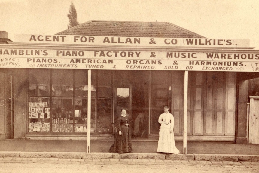
<svg viewBox="0 0 259 173"><path fill-rule="evenodd" d="M29 96L50 96L50 70L30 69Z"/></svg>

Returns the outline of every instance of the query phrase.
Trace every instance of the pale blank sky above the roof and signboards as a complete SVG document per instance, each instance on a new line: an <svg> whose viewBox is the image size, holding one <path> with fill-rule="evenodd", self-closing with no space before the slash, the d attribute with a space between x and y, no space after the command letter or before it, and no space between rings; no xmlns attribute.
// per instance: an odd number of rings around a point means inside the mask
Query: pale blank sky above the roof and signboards
<svg viewBox="0 0 259 173"><path fill-rule="evenodd" d="M0 0L0 31L54 35L67 29L74 3L89 20L170 22L209 39L249 39L259 50L258 0Z"/></svg>

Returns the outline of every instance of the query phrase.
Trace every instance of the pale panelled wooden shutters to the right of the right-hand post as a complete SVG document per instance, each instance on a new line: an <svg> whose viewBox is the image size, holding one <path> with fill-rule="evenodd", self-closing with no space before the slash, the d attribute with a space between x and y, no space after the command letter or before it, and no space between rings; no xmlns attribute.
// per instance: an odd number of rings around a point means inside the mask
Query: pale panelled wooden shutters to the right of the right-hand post
<svg viewBox="0 0 259 173"><path fill-rule="evenodd" d="M188 136L234 136L236 76L231 72L190 72Z"/></svg>

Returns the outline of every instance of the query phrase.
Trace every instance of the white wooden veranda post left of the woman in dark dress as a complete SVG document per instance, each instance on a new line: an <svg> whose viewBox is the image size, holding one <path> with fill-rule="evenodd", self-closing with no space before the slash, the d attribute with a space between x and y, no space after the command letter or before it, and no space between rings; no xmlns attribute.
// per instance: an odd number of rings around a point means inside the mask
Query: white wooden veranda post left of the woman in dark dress
<svg viewBox="0 0 259 173"><path fill-rule="evenodd" d="M87 70L87 153L90 153L91 139L91 69Z"/></svg>

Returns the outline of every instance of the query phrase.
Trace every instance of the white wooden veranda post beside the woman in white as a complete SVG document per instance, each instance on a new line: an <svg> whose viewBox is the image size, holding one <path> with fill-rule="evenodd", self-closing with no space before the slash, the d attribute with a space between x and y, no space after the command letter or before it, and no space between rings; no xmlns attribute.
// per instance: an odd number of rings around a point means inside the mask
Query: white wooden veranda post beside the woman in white
<svg viewBox="0 0 259 173"><path fill-rule="evenodd" d="M188 71L184 71L184 136L183 154L187 154L187 96L188 96Z"/></svg>

